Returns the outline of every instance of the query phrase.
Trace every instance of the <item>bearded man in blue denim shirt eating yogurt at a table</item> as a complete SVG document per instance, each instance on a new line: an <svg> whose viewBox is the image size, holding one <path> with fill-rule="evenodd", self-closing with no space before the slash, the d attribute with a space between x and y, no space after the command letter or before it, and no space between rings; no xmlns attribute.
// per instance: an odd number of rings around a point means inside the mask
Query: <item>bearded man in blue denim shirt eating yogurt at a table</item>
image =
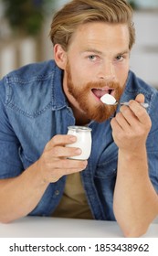
<svg viewBox="0 0 158 256"><path fill-rule="evenodd" d="M50 37L55 61L0 82L0 220L116 219L124 236L141 236L158 214L158 93L129 70L132 9L74 0ZM130 106L103 104L105 93ZM92 129L88 161L68 159L81 154L65 146L74 124Z"/></svg>

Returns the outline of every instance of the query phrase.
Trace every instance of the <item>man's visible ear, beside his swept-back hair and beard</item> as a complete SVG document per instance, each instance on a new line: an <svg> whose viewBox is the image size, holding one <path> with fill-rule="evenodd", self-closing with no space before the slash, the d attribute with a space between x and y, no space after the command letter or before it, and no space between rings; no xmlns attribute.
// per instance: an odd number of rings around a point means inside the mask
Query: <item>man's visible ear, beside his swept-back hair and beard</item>
<svg viewBox="0 0 158 256"><path fill-rule="evenodd" d="M67 52L61 47L61 45L54 46L54 59L60 69L65 69L67 65Z"/></svg>

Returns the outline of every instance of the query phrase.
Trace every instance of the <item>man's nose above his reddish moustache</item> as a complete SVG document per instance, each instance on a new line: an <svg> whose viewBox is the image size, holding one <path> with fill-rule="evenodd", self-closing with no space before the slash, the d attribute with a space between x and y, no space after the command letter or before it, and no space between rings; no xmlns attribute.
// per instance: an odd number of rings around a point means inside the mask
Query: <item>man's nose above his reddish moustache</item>
<svg viewBox="0 0 158 256"><path fill-rule="evenodd" d="M111 62L106 62L100 66L98 77L100 80L114 80L115 70Z"/></svg>

